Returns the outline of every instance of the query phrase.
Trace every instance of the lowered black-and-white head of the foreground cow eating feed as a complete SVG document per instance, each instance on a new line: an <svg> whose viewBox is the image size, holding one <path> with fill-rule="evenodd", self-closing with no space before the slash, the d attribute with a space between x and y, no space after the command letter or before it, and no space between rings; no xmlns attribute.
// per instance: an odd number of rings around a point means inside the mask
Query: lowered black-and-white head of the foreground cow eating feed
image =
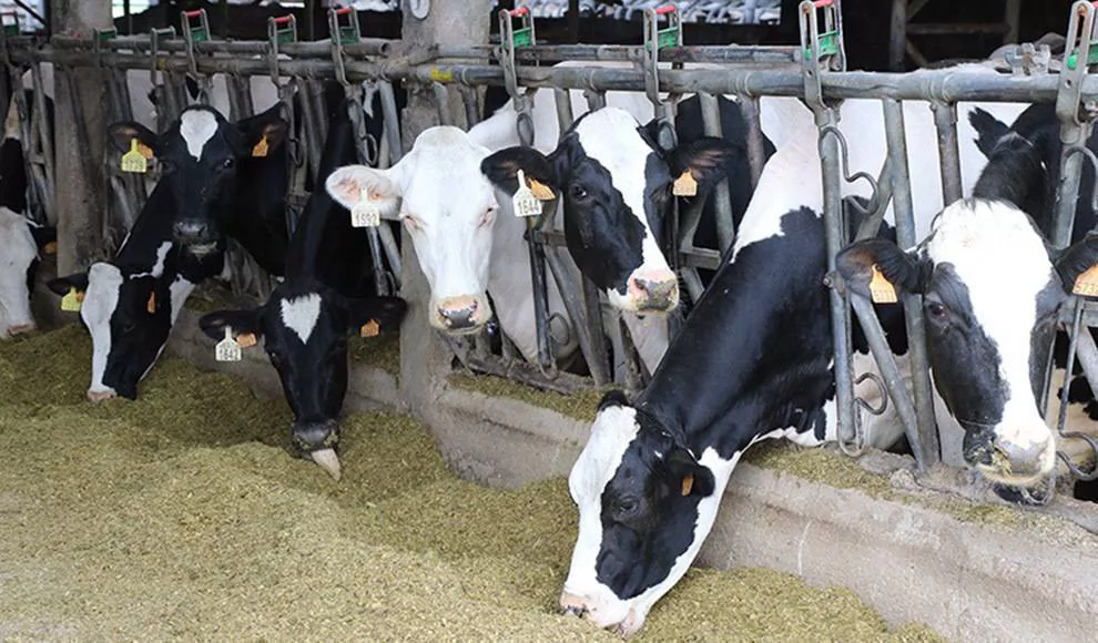
<svg viewBox="0 0 1098 643"><path fill-rule="evenodd" d="M640 630L712 528L716 480L655 418L607 394L568 477L579 535L560 608L622 635Z"/></svg>

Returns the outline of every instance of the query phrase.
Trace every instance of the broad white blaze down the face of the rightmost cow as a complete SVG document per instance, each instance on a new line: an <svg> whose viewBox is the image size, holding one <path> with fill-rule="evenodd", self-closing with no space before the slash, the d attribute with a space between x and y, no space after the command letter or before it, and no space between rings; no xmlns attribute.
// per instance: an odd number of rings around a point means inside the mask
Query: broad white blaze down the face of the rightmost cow
<svg viewBox="0 0 1098 643"><path fill-rule="evenodd" d="M1003 202L959 201L935 221L926 253L935 265L953 265L968 290L973 318L999 353L999 376L1009 391L1003 391L996 432L1023 448L1046 442L1049 431L1033 395L1029 356L1037 296L1058 277L1029 218Z"/></svg>

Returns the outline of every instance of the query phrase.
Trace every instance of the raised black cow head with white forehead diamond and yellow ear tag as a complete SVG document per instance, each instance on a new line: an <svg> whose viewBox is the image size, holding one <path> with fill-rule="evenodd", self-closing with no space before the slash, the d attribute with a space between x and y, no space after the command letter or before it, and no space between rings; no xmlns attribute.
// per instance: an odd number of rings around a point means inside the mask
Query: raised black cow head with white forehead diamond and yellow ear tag
<svg viewBox="0 0 1098 643"><path fill-rule="evenodd" d="M135 122L110 126L111 140L120 152L128 152L136 140L152 150L175 204L174 236L192 254L209 254L225 246L225 218L236 191L236 166L253 155L256 146L270 153L282 143L287 123L278 115L281 105L244 119L227 122L206 105L192 105L172 126L155 134ZM257 152L256 152L257 153Z"/></svg>

